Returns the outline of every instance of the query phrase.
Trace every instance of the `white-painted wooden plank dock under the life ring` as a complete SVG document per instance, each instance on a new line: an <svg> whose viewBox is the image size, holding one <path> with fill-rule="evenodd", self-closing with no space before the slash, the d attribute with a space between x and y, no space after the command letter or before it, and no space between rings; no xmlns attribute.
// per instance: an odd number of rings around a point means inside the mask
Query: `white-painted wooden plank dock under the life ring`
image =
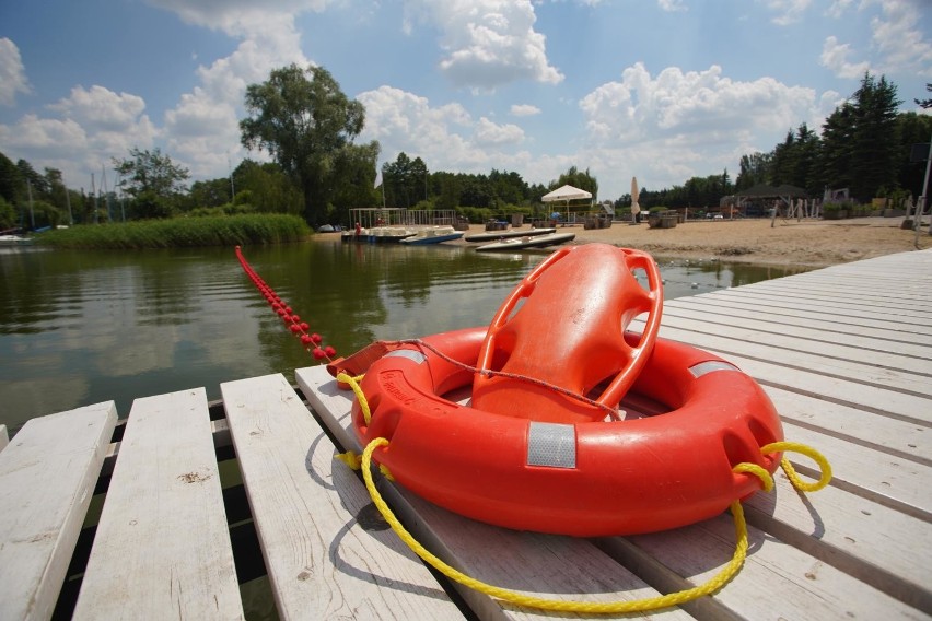
<svg viewBox="0 0 932 621"><path fill-rule="evenodd" d="M745 504L737 577L653 614L932 618L932 250L668 302L661 335L754 376L787 438L822 450L835 479L800 494L778 476ZM126 424L113 402L51 414L5 446L0 427L0 619L566 617L453 586L387 529L358 473L334 459L358 448L349 396L323 367L221 392L214 407L202 388L137 399ZM683 589L734 547L727 514L573 539L475 523L384 480L380 489L454 566L556 599Z"/></svg>

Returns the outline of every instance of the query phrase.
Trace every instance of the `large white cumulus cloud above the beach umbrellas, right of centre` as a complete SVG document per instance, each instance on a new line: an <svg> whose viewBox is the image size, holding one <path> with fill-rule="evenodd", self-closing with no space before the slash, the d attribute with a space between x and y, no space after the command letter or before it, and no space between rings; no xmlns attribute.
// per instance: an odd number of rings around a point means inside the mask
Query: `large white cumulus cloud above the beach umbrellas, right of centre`
<svg viewBox="0 0 932 621"><path fill-rule="evenodd" d="M772 78L734 81L718 66L667 68L654 78L636 63L580 101L587 137L579 161L619 178L637 175L646 187L668 186L734 168L741 155L772 149L803 121L817 130L832 103ZM734 180L737 171L730 174Z"/></svg>

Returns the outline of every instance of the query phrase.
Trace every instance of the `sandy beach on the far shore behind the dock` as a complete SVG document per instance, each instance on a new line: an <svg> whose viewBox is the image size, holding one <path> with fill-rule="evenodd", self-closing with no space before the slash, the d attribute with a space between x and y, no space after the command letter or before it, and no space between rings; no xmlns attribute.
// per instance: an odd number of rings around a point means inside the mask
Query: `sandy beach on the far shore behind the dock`
<svg viewBox="0 0 932 621"><path fill-rule="evenodd" d="M894 253L932 248L928 227L902 230L902 218L851 220L703 220L673 229L615 222L608 229L558 227L575 233L571 244L604 242L646 250L656 257L727 260L762 265L827 267ZM485 227L474 224L469 233ZM468 234L468 233L467 233ZM462 242L465 243L465 242Z"/></svg>

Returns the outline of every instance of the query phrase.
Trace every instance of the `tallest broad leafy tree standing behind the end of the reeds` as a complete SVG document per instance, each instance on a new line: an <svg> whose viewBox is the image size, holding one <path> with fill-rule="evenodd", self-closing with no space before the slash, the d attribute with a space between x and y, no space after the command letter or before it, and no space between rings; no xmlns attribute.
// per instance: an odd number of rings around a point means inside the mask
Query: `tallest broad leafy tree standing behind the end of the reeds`
<svg viewBox="0 0 932 621"><path fill-rule="evenodd" d="M246 87L240 121L243 145L265 149L304 192L304 218L321 224L336 191L340 162L371 152L353 148L365 125L365 108L348 98L323 67L275 69L261 84ZM377 144L377 143L374 143ZM371 168L369 186L375 178Z"/></svg>

